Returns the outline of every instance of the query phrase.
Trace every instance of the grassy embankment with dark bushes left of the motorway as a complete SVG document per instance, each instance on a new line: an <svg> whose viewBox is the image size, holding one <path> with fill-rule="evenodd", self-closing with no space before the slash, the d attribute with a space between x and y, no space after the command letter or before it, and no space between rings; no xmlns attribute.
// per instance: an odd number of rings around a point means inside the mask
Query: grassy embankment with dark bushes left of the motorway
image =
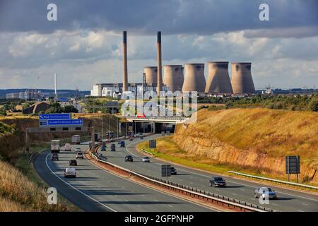
<svg viewBox="0 0 318 226"><path fill-rule="evenodd" d="M46 190L49 186L35 172L33 163L28 162L29 155L23 153L23 148L13 150L7 147L8 143L19 141L21 133L17 127L16 124L0 121L0 212L79 210L61 196L58 196L57 205L47 203ZM30 153L41 152L48 147L49 144L44 142L31 145Z"/></svg>

